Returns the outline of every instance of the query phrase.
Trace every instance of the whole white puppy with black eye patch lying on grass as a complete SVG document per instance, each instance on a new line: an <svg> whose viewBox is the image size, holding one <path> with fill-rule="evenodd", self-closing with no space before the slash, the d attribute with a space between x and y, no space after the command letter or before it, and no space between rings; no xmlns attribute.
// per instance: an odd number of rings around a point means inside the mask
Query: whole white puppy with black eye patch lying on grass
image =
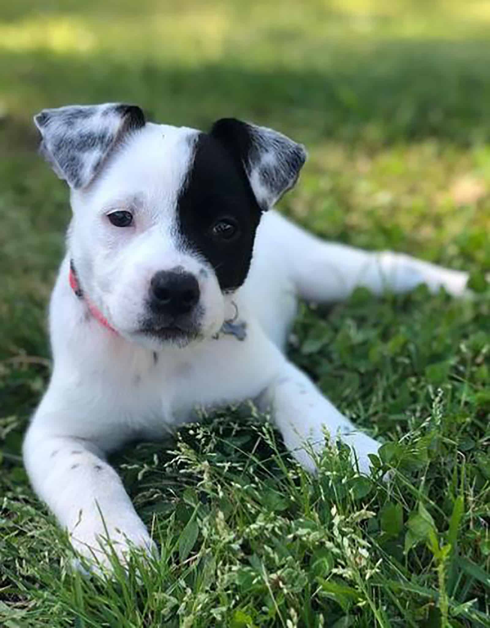
<svg viewBox="0 0 490 628"><path fill-rule="evenodd" d="M107 534L122 557L151 548L106 455L196 408L254 399L306 469L326 429L368 473L378 443L283 354L296 298L423 282L461 295L466 274L323 242L271 211L306 159L271 129L222 119L202 133L123 104L46 109L35 122L73 219L50 306L53 376L24 461L75 549L106 562Z"/></svg>

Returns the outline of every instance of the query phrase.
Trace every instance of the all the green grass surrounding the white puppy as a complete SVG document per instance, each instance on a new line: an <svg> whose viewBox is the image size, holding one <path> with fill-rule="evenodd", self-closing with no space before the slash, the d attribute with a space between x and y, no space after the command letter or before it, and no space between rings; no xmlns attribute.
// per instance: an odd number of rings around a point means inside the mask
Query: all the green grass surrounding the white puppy
<svg viewBox="0 0 490 628"><path fill-rule="evenodd" d="M0 625L490 625L490 9L427 4L2 4ZM373 477L343 450L305 475L253 408L226 409L114 458L160 556L102 582L71 571L20 447L69 217L31 116L108 100L290 134L311 159L284 213L467 269L478 292L303 305L291 358L385 443Z"/></svg>

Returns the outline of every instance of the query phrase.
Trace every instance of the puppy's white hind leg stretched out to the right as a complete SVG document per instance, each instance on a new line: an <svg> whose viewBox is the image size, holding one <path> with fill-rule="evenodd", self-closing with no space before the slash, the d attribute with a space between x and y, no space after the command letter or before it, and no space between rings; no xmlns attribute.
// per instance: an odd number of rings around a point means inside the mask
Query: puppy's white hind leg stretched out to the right
<svg viewBox="0 0 490 628"><path fill-rule="evenodd" d="M444 287L464 295L467 273L430 264L392 251L372 252L326 242L277 216L278 232L286 247L285 259L298 295L318 303L348 298L363 286L375 295L405 293L425 283L432 292Z"/></svg>

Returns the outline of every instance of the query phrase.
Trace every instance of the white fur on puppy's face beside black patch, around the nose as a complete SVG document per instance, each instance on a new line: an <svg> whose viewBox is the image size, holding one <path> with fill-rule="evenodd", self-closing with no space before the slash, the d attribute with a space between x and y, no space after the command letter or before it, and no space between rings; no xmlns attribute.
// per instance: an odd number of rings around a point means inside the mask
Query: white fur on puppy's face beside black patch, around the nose
<svg viewBox="0 0 490 628"><path fill-rule="evenodd" d="M199 282L206 336L224 320L224 297L214 271L182 246L177 201L192 168L198 131L146 124L128 136L85 192L73 191L70 247L81 284L110 323L128 337L147 315L150 281L179 266ZM133 214L115 227L107 214ZM202 272L202 270L206 272Z"/></svg>

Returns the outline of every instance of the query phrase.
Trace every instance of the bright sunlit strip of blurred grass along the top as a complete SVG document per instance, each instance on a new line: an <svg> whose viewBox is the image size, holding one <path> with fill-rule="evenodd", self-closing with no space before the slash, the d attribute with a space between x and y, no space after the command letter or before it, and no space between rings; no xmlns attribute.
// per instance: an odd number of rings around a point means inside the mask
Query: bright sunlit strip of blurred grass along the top
<svg viewBox="0 0 490 628"><path fill-rule="evenodd" d="M66 9L64 10L66 5ZM125 14L117 4L83 9L60 3L43 11L39 3L22 3L18 19L0 21L0 50L88 53L110 50L115 57L138 55L180 63L227 60L229 55L248 64L298 62L318 65L312 58L320 46L348 40L350 48L375 45L373 37L445 39L484 35L490 23L488 3L399 3L387 1L287 0L281 10L263 3L206 2L143 3ZM9 11L6 11L9 14ZM0 20L2 10L0 9ZM298 41L301 45L298 46ZM298 50L299 48L299 50ZM246 55L244 53L246 52Z"/></svg>

